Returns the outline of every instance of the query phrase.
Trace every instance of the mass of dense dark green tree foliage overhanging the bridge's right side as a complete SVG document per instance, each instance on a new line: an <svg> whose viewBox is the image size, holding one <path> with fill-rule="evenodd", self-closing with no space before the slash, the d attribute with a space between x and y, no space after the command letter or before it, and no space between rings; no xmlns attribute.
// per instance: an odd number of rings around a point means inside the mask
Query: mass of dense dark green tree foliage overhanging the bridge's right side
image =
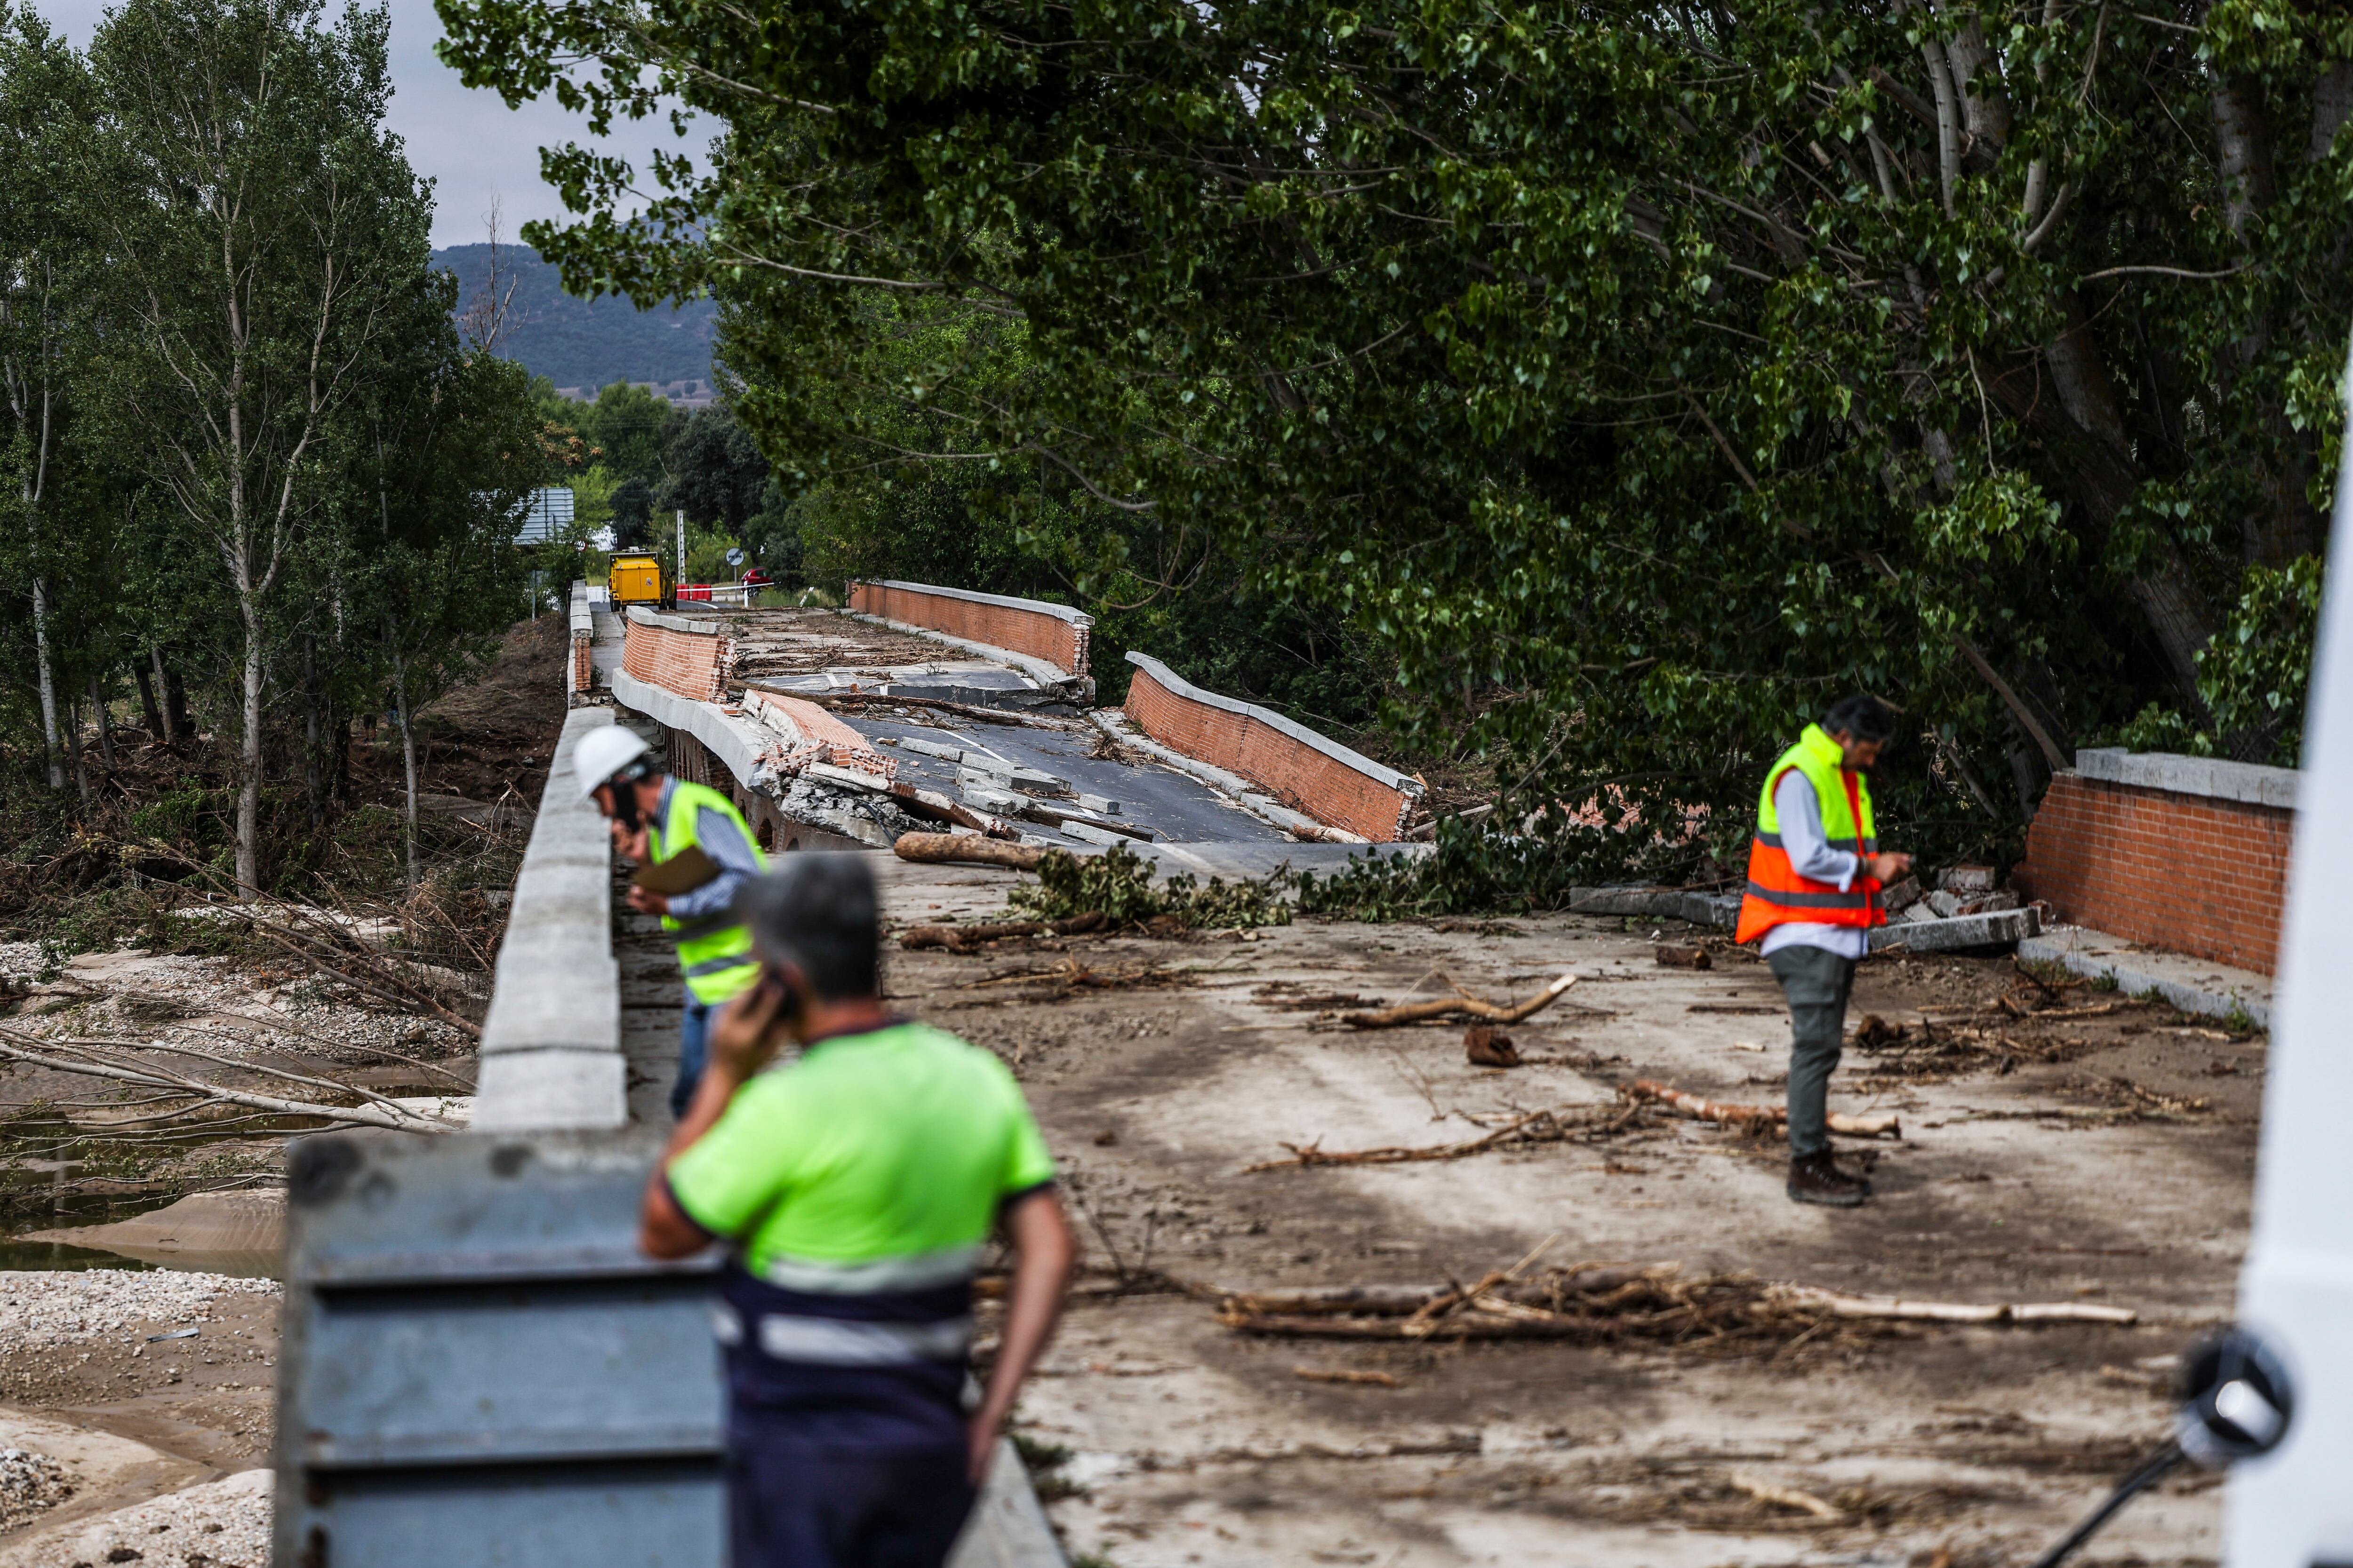
<svg viewBox="0 0 2353 1568"><path fill-rule="evenodd" d="M1468 719L1551 827L1631 830L1560 865L1734 856L1857 686L1913 724L1882 795L1929 851L2151 703L2285 741L2200 654L2322 548L2337 12L440 9L471 82L586 59L598 125L725 127L645 207L551 153L586 216L527 237L574 287L718 292L795 487L984 465L967 510L1089 592L1231 571L1346 623L1412 733Z"/></svg>

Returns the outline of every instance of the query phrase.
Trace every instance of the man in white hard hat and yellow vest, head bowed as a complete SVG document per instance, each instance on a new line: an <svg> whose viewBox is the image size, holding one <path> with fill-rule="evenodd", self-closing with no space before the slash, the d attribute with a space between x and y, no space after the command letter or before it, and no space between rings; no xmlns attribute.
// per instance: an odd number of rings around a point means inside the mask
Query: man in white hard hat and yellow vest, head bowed
<svg viewBox="0 0 2353 1568"><path fill-rule="evenodd" d="M704 879L692 889L628 889L631 910L661 917L687 980L678 1025L678 1081L671 1086L671 1117L685 1117L704 1077L713 1009L734 1001L760 978L751 929L736 914L736 896L767 875L767 863L732 799L711 785L671 778L654 764L652 748L619 724L581 736L572 752L572 776L581 797L593 799L612 820L614 849L631 860L661 865L689 849L701 851L692 865L701 867Z"/></svg>

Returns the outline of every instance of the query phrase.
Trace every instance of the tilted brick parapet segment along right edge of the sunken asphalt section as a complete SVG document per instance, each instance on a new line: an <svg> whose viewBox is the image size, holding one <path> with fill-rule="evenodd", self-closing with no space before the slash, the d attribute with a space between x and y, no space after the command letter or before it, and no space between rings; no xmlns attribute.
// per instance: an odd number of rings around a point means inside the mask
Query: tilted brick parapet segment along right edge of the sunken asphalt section
<svg viewBox="0 0 2353 1568"><path fill-rule="evenodd" d="M1136 656L1129 656L1136 663ZM1155 663L1136 663L1127 717L1153 741L1261 785L1278 802L1327 827L1374 844L1405 835L1414 790L1381 764L1339 743L1315 745L1287 733L1287 722L1247 703L1209 703ZM1308 731L1313 733L1313 731ZM1353 762L1351 762L1353 759Z"/></svg>

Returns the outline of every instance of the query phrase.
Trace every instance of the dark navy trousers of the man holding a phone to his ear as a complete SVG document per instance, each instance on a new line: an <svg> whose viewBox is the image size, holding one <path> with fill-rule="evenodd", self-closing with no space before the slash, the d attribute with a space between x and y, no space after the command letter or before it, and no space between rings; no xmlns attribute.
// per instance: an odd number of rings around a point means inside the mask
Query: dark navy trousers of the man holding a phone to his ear
<svg viewBox="0 0 2353 1568"><path fill-rule="evenodd" d="M786 1410L727 1422L729 1568L941 1568L972 1512L965 1450L826 1448Z"/></svg>

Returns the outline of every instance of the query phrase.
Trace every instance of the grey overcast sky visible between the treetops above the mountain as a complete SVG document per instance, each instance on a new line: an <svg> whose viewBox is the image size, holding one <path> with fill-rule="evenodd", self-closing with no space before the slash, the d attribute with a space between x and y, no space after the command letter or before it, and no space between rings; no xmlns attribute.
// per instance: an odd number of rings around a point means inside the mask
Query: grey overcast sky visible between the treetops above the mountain
<svg viewBox="0 0 2353 1568"><path fill-rule="evenodd" d="M38 0L52 26L78 49L106 14L104 0ZM341 0L327 0L329 14ZM482 214L504 200L506 237L532 219L565 216L562 197L539 179L539 148L584 136L553 99L508 110L494 92L468 92L456 71L433 59L440 19L433 0L391 0L393 7L393 132L407 143L409 162L433 181L433 244L468 244L482 237ZM668 122L645 120L621 127L607 143L647 176L647 150L664 146L701 153L701 139L678 141Z"/></svg>

